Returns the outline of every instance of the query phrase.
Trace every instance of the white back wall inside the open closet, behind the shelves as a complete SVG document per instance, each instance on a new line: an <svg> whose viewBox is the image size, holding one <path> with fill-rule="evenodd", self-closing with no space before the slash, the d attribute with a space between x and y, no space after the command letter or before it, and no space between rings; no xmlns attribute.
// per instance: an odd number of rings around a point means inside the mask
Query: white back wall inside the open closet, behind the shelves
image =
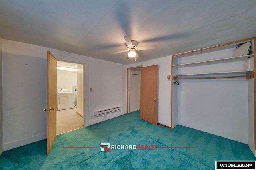
<svg viewBox="0 0 256 170"><path fill-rule="evenodd" d="M234 56L226 49L179 59L189 63ZM244 61L179 68L178 74L244 70ZM247 143L248 81L243 79L179 80L180 125Z"/></svg>

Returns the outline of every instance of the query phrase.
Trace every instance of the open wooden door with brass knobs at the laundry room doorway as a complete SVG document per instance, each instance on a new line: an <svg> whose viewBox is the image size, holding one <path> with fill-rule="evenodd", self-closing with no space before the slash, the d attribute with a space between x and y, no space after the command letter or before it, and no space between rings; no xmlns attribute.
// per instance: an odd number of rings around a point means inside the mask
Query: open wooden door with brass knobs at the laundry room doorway
<svg viewBox="0 0 256 170"><path fill-rule="evenodd" d="M57 60L47 51L47 154L56 138L57 129Z"/></svg>

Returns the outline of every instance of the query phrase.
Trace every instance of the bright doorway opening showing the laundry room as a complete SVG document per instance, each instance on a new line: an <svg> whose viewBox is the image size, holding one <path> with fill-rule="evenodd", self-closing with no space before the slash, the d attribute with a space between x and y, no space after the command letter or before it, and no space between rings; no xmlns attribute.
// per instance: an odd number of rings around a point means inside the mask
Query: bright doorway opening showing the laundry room
<svg viewBox="0 0 256 170"><path fill-rule="evenodd" d="M83 127L84 65L57 61L57 134Z"/></svg>

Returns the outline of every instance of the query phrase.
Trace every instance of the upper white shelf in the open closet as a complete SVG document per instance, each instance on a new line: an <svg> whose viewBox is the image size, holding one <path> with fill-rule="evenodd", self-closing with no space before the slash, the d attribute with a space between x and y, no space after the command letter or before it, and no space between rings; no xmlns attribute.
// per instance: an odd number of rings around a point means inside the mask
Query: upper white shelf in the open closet
<svg viewBox="0 0 256 170"><path fill-rule="evenodd" d="M172 67L192 67L192 66L200 66L200 65L206 65L206 64L219 64L219 63L228 63L233 61L243 61L247 58L253 57L254 54L251 55L243 55L238 57L228 57L228 58L222 58L222 59L214 59L214 60L208 60L208 61L199 61L194 63L185 63L185 64L177 64L173 65Z"/></svg>

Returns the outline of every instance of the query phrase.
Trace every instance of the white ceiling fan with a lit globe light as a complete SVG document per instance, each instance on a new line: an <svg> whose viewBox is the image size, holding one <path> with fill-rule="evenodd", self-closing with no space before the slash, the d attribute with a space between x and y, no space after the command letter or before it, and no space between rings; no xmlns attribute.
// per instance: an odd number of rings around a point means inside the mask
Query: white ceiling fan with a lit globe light
<svg viewBox="0 0 256 170"><path fill-rule="evenodd" d="M135 58L136 61L136 55L137 58L139 58L138 53L136 53L136 51L142 51L142 50L147 50L147 49L155 49L156 45L148 45L148 46L144 46L144 47L137 47L138 42L131 40L130 37L128 36L124 36L124 40L126 42L126 50L123 51L118 51L118 52L114 52L111 54L118 54L118 53L124 53L124 52L128 52L128 59L130 58Z"/></svg>

